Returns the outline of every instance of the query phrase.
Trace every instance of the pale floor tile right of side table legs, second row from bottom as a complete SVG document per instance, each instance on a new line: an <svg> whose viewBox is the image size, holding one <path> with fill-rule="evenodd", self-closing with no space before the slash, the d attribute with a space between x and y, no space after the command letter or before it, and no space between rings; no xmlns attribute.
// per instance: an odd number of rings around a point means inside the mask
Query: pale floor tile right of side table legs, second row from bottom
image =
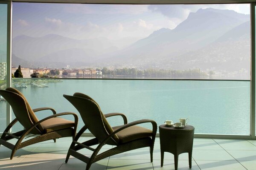
<svg viewBox="0 0 256 170"><path fill-rule="evenodd" d="M197 160L230 161L235 160L225 150L193 150L192 157Z"/></svg>

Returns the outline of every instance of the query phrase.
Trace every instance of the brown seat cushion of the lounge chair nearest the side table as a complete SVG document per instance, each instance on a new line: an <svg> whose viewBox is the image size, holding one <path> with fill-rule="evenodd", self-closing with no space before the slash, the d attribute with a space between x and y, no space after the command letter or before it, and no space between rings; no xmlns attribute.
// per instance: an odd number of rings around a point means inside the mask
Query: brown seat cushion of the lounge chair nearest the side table
<svg viewBox="0 0 256 170"><path fill-rule="evenodd" d="M115 126L112 128L115 131L123 126L125 126L125 125ZM121 143L130 142L130 141L133 141L136 139L150 137L150 136L152 136L152 130L135 125L135 126L127 127L125 129L121 130L120 132L117 132L116 135L118 136L119 143L121 144Z"/></svg>

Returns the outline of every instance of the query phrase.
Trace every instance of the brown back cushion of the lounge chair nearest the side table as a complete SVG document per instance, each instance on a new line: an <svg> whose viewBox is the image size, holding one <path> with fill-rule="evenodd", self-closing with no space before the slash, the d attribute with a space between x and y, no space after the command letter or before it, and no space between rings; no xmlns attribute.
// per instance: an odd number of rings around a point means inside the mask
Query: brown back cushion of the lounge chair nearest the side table
<svg viewBox="0 0 256 170"><path fill-rule="evenodd" d="M90 99L91 101L95 102L95 100L93 100L90 96L87 96L86 94L75 93L75 94L73 94L73 96L82 97L82 98L85 98L85 99ZM102 116L102 121L103 121L103 123L104 123L104 126L105 126L105 128L106 128L108 134L113 133L114 130L113 130L112 127L109 125L109 123L108 123L106 117L104 116L104 114L102 113L102 111L101 111L101 109L100 109L98 103L97 103L97 102L95 102L95 103L96 103L96 105L98 106L98 108L99 108L99 110L100 110L100 113L101 113L101 116ZM117 137L116 135L113 136L113 139L114 139L116 142L119 142L119 139L118 139L118 137Z"/></svg>

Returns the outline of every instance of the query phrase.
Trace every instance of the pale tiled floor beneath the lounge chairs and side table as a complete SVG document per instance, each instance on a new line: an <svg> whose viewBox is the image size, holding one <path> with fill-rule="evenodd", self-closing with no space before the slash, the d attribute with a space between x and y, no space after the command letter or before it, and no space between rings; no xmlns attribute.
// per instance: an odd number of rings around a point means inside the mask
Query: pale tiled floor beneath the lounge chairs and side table
<svg viewBox="0 0 256 170"><path fill-rule="evenodd" d="M90 137L82 137L85 141ZM64 163L71 138L33 144L16 152L0 147L0 170L85 170L86 164L70 157ZM105 145L102 150L111 146ZM90 154L82 150L83 154ZM94 163L90 170L174 170L174 157L165 153L160 167L160 142L156 139L154 161L150 162L149 148L132 150ZM188 154L179 156L178 170L189 170ZM256 170L256 141L234 139L194 139L191 170Z"/></svg>

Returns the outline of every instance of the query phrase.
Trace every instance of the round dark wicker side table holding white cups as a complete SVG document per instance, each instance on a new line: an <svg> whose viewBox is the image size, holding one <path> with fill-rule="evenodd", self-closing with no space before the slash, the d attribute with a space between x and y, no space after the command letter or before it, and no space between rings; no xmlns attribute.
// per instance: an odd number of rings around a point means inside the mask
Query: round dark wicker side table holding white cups
<svg viewBox="0 0 256 170"><path fill-rule="evenodd" d="M186 125L183 128L159 126L161 167L163 167L164 152L174 155L175 170L178 169L180 153L189 153L189 168L192 167L192 149L195 127Z"/></svg>

